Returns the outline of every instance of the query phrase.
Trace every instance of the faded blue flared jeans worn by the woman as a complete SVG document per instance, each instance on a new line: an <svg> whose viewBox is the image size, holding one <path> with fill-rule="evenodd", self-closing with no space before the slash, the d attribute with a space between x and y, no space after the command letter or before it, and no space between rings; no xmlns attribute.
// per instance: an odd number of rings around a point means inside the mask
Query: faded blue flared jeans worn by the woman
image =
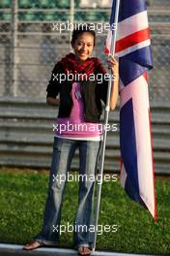
<svg viewBox="0 0 170 256"><path fill-rule="evenodd" d="M79 149L79 175L86 176L79 181L78 208L73 224L73 239L75 247L92 246L94 232L89 231L94 225L94 190L100 142L75 141L64 138L54 138L51 169L48 183L47 199L43 215L42 232L35 237L46 245L58 245L61 222L62 199L66 185L66 178L61 182L59 176L67 176L71 168L71 160L75 149ZM80 177L79 176L79 177ZM63 180L63 179L62 179ZM68 211L69 212L69 211ZM75 229L76 226L76 229ZM77 227L82 227L78 228Z"/></svg>

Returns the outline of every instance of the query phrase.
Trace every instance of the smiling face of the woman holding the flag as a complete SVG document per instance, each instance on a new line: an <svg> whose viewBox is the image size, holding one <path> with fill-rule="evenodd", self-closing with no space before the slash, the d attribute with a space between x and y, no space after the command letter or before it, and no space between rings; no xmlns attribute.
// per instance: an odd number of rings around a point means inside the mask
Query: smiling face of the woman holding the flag
<svg viewBox="0 0 170 256"><path fill-rule="evenodd" d="M75 58L78 62L84 62L92 53L94 48L94 36L89 32L80 34L72 45Z"/></svg>

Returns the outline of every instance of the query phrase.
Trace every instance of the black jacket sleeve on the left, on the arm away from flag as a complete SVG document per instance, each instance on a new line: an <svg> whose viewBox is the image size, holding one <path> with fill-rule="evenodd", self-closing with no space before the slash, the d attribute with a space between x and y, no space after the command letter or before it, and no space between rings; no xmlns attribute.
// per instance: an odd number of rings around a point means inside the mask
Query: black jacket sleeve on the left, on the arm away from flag
<svg viewBox="0 0 170 256"><path fill-rule="evenodd" d="M60 92L60 74L64 73L64 68L61 63L57 63L51 73L51 79L48 81L47 87L46 87L46 98L52 97L56 98L56 96Z"/></svg>

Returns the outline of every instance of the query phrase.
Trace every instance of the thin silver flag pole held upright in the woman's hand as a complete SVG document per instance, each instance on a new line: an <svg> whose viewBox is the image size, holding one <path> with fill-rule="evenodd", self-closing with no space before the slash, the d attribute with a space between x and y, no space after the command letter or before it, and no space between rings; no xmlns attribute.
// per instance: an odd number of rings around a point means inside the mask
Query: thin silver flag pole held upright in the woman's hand
<svg viewBox="0 0 170 256"><path fill-rule="evenodd" d="M110 54L108 58L112 55L115 55L115 46L116 46L116 33L117 33L117 27L118 27L118 16L119 16L119 7L120 7L120 0L113 0L113 2L116 1L115 6L115 18L114 18L114 31L112 32L112 39L111 39L111 46L110 46ZM112 2L112 5L113 5ZM106 106L104 111L104 127L107 127L108 124L108 114L110 111L110 93L111 93L111 86L112 86L112 73L110 71L110 79L108 83L108 89L107 89L107 100L106 100ZM96 244L97 244L97 227L99 222L99 204L100 204L100 195L101 195L101 183L102 183L102 177L103 177L103 165L104 165L104 155L105 155L105 144L106 144L106 138L107 138L107 129L103 129L103 141L101 144L101 156L99 160L99 177L101 182L97 185L97 202L96 202L96 209L95 209L95 237L94 237L94 245L92 253L95 253L96 250Z"/></svg>

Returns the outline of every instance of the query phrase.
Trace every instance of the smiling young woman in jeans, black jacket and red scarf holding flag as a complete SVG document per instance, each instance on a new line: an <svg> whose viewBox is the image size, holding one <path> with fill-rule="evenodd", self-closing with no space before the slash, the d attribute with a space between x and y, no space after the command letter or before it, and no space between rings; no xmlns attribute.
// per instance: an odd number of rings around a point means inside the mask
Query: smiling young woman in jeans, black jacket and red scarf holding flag
<svg viewBox="0 0 170 256"><path fill-rule="evenodd" d="M53 155L49 176L42 232L24 246L30 250L42 245L58 245L62 198L71 159L79 149L79 195L74 221L74 244L80 255L89 255L93 247L93 201L99 146L101 101L106 103L108 76L98 58L90 57L96 45L95 32L88 27L73 30L71 47L74 53L59 61L47 85L46 102L58 105ZM110 109L114 110L118 97L118 63L108 61L114 75L110 96ZM60 96L59 100L57 96ZM85 178L84 178L85 177ZM82 229L86 227L86 229Z"/></svg>

